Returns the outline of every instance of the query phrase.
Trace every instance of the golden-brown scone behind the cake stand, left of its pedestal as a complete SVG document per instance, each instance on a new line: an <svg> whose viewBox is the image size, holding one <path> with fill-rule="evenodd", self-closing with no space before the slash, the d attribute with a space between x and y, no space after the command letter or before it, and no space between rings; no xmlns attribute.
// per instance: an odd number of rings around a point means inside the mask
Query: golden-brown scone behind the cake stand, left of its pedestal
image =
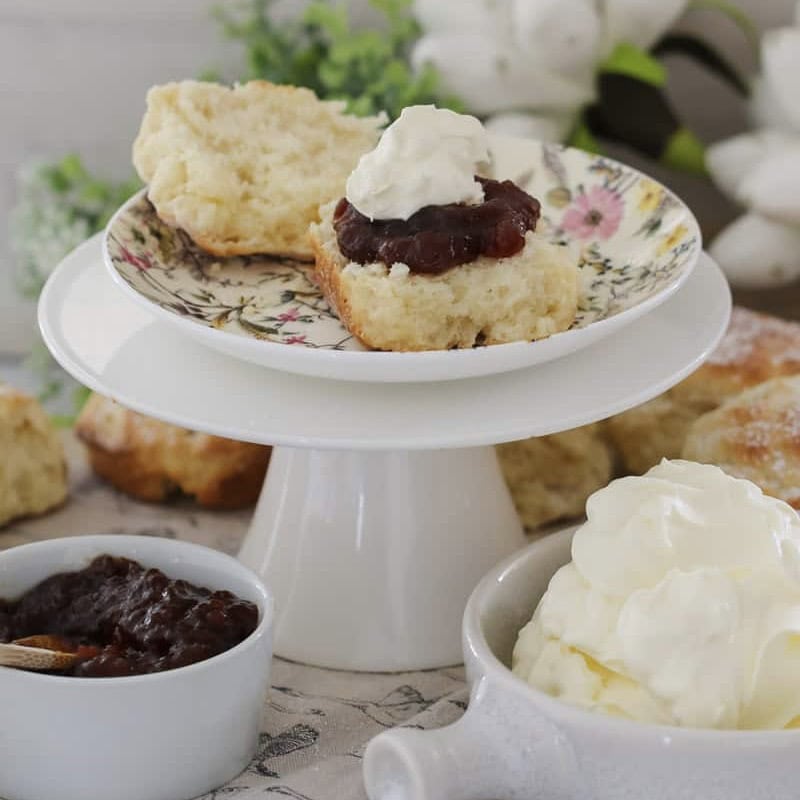
<svg viewBox="0 0 800 800"><path fill-rule="evenodd" d="M206 508L252 505L270 448L196 433L92 395L75 425L94 471L140 500L183 493Z"/></svg>

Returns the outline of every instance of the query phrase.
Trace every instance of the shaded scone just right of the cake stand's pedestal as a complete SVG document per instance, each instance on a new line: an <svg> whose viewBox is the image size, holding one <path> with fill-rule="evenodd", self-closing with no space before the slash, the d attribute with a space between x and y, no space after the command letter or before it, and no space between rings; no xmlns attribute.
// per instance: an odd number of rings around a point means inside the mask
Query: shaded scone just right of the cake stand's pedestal
<svg viewBox="0 0 800 800"><path fill-rule="evenodd" d="M613 477L614 457L598 424L497 445L500 467L527 530L579 517Z"/></svg>

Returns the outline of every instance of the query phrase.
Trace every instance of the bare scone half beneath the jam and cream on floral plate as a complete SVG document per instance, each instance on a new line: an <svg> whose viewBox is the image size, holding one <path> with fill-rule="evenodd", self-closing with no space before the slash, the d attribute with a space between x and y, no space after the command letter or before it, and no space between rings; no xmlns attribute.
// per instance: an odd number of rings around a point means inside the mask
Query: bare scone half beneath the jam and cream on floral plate
<svg viewBox="0 0 800 800"><path fill-rule="evenodd" d="M481 256L436 275L342 255L335 203L311 226L315 273L345 327L377 350L446 350L532 341L575 319L578 268L568 248L529 231L508 258Z"/></svg>

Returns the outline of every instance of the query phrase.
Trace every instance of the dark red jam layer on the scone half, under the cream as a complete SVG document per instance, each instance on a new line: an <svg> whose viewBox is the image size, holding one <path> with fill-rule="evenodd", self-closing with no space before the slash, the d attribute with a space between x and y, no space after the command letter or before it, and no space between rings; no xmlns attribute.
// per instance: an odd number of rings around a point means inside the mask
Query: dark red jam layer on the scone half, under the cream
<svg viewBox="0 0 800 800"><path fill-rule="evenodd" d="M536 227L539 201L511 181L477 175L484 200L468 206L426 206L407 220L370 222L342 198L333 215L339 249L351 261L407 264L412 272L436 274L480 256L508 258L525 246Z"/></svg>

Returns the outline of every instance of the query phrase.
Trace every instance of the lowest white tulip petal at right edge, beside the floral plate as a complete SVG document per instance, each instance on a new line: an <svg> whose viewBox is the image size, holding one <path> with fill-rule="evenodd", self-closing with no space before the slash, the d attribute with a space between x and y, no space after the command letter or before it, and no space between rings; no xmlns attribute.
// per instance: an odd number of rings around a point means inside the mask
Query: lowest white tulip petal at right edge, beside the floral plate
<svg viewBox="0 0 800 800"><path fill-rule="evenodd" d="M711 243L711 257L733 286L768 289L800 278L800 229L745 214Z"/></svg>

